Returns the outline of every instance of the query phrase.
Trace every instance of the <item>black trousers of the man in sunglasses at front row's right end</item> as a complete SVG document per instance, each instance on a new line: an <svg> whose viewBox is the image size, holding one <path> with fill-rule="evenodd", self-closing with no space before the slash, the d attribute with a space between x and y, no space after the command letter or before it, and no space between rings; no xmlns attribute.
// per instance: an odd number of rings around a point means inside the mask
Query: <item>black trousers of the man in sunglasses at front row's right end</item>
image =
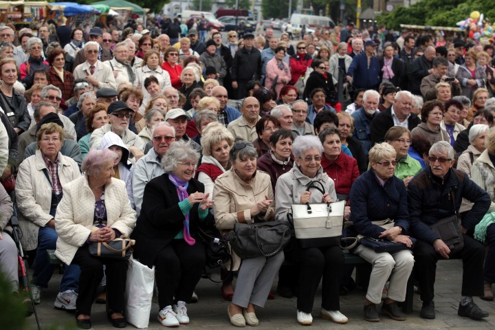
<svg viewBox="0 0 495 330"><path fill-rule="evenodd" d="M483 296L483 258L485 247L471 236L463 235L464 248L452 255L463 261L463 296ZM437 273L437 261L441 258L433 245L417 240L414 250L415 278L419 282L421 300L430 303L434 298L434 282Z"/></svg>

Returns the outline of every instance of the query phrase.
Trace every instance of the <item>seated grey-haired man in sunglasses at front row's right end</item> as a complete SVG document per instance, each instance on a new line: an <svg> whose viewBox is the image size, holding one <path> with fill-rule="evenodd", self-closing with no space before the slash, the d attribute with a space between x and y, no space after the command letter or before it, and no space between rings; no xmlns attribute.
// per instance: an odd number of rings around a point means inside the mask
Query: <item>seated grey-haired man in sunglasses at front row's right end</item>
<svg viewBox="0 0 495 330"><path fill-rule="evenodd" d="M410 235L417 239L415 254L415 274L419 281L423 307L421 318L435 318L434 282L437 261L441 258L458 257L463 261L463 282L461 302L457 314L473 320L486 318L473 301L473 296L483 296L483 259L485 247L472 238L474 227L481 221L490 206L487 192L474 184L461 170L452 168L456 162L454 148L441 141L433 144L428 153L430 166L416 175L408 184L408 209ZM452 246L445 244L432 225L445 217L458 214L462 199L474 203L470 211L453 225L460 225L464 246L452 252ZM452 223L451 223L452 224Z"/></svg>

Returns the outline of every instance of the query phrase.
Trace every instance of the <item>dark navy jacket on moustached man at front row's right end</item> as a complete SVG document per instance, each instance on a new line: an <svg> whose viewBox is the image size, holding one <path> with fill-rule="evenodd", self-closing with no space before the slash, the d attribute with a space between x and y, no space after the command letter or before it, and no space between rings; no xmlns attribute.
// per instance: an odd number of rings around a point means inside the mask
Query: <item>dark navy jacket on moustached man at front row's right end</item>
<svg viewBox="0 0 495 330"><path fill-rule="evenodd" d="M451 168L444 177L443 187L434 178L437 177L432 174L430 166L426 166L426 169L417 174L408 184L410 234L430 244L440 238L431 230L430 225L454 214L454 208L455 212L459 212L463 197L474 202L472 209L461 221L468 232L472 232L476 224L483 219L491 203L487 192L461 170ZM454 201L452 201L450 192L452 192Z"/></svg>

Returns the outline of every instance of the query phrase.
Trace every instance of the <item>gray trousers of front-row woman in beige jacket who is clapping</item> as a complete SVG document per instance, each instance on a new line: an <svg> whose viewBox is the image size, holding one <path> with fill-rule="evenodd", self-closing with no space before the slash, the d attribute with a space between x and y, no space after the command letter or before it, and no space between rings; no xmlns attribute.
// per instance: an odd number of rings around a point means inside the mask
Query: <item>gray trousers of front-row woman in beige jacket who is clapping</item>
<svg viewBox="0 0 495 330"><path fill-rule="evenodd" d="M259 256L253 259L243 259L232 303L243 308L248 308L250 303L264 307L283 261L283 252L270 258Z"/></svg>

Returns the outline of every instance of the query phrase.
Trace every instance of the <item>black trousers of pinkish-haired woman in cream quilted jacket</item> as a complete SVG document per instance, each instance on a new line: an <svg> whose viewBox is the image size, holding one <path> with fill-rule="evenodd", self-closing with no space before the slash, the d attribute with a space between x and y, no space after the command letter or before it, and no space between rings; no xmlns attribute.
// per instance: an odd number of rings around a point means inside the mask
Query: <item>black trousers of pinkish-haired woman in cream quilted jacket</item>
<svg viewBox="0 0 495 330"><path fill-rule="evenodd" d="M79 295L76 314L91 315L91 305L96 298L96 289L103 278L103 265L107 266L107 307L109 311L124 313L124 292L129 261L104 259L91 256L88 246L80 247L72 265L79 265Z"/></svg>

